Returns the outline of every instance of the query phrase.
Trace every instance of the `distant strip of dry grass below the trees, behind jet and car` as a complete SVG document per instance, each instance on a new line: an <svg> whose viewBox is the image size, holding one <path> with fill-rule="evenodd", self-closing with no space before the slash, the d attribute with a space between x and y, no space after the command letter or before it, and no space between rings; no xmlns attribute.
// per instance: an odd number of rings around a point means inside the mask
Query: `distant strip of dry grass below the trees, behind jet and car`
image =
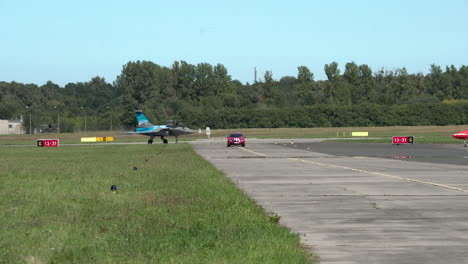
<svg viewBox="0 0 468 264"><path fill-rule="evenodd" d="M451 137L452 134L468 129L468 125L459 126L398 126L398 127L327 127L327 128L245 128L245 129L212 129L211 137L226 137L230 132L242 132L248 138L349 138L353 131L368 131L369 137L381 138L364 142L391 142L392 136L414 136L419 143L460 143ZM114 137L115 142L146 142L149 137L124 135L116 131L89 131L87 133L50 133L35 135L3 135L0 145L34 145L38 138L58 138L60 143L78 144L81 137ZM204 133L180 138L184 140L204 139ZM173 137L168 137L174 141ZM155 142L159 139L156 138ZM355 142L355 141L352 141Z"/></svg>

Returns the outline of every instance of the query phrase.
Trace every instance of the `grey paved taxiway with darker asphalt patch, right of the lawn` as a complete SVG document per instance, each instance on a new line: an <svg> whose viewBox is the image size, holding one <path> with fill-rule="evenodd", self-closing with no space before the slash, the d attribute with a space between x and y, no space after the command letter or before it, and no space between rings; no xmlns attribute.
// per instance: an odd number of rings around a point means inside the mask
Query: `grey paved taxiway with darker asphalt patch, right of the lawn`
<svg viewBox="0 0 468 264"><path fill-rule="evenodd" d="M468 263L468 148L274 141L193 146L320 263Z"/></svg>

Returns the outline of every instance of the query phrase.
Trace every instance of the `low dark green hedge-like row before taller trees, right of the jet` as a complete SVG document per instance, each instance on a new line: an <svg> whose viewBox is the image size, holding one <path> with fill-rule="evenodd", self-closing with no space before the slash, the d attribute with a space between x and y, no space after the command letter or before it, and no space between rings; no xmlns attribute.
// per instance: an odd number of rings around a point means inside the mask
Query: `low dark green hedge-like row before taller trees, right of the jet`
<svg viewBox="0 0 468 264"><path fill-rule="evenodd" d="M201 124L230 128L423 126L468 124L468 103L352 106L294 106L290 108L230 109L187 116Z"/></svg>

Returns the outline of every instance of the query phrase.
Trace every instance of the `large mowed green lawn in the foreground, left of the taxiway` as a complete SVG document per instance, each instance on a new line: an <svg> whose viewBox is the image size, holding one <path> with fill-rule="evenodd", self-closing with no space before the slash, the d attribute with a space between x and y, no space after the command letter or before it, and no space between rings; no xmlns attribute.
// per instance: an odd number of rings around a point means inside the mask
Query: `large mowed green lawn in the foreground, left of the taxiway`
<svg viewBox="0 0 468 264"><path fill-rule="evenodd" d="M4 147L0 167L1 263L313 262L188 144Z"/></svg>

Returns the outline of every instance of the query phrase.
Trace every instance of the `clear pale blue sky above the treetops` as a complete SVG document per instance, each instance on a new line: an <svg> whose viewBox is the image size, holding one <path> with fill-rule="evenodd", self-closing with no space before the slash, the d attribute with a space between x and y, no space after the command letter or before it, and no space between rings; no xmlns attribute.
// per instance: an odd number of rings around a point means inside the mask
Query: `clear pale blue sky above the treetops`
<svg viewBox="0 0 468 264"><path fill-rule="evenodd" d="M332 61L426 74L468 65L466 0L0 0L0 81L61 86L128 61L221 63L252 82L305 65L315 79Z"/></svg>

